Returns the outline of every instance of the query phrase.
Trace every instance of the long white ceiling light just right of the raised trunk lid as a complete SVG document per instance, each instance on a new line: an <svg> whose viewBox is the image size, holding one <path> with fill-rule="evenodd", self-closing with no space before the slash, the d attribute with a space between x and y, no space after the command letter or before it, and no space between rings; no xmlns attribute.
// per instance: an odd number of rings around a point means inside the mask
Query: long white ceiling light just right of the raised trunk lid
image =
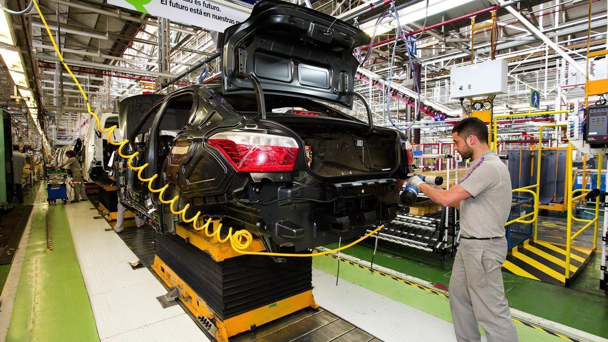
<svg viewBox="0 0 608 342"><path fill-rule="evenodd" d="M473 0L429 0L428 16L430 17L432 15L445 12L471 1ZM407 25L413 21L424 19L424 13L426 13L426 1L422 0L420 2L416 2L413 5L398 10L397 13L399 13L399 23L401 23L401 25ZM377 19L373 19L367 23L363 23L361 24L360 28L368 35L372 35L376 21ZM378 26L376 35L386 33L394 29L396 23L393 24L392 21L394 21L394 19L385 19L384 23Z"/></svg>

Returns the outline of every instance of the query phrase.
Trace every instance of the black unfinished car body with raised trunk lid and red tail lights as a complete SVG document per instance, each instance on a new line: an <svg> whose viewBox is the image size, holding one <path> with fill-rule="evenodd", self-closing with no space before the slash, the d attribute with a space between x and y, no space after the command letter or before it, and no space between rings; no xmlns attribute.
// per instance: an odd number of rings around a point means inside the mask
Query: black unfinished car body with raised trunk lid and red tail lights
<svg viewBox="0 0 608 342"><path fill-rule="evenodd" d="M269 251L302 251L361 236L395 218L413 171L412 148L393 129L337 110L353 92L352 51L369 38L298 5L261 1L224 32L221 85L168 94L129 128L133 166L158 173L165 200L187 217L219 217L260 236ZM123 119L121 119L122 121ZM171 214L137 172L123 169L122 202L170 234ZM182 223L185 224L185 223Z"/></svg>

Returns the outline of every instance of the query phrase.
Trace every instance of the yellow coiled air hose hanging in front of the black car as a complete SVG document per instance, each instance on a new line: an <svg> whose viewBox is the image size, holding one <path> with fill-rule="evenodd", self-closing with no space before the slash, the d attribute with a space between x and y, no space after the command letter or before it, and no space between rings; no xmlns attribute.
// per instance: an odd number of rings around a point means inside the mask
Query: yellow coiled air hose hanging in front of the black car
<svg viewBox="0 0 608 342"><path fill-rule="evenodd" d="M269 252L245 251L247 248L249 248L252 241L254 240L254 237L251 234L251 232L247 231L246 229L241 229L239 231L232 232L232 228L230 228L226 237L224 237L224 239L222 239L219 234L221 231L221 227L222 227L221 223L219 223L218 228L216 228L212 232L209 231L209 226L211 225L211 222L212 222L211 218L209 218L204 225L198 226L199 216L202 215L201 211L197 211L193 217L187 218L186 211L188 210L188 208L190 208L189 203L185 204L184 208L182 208L181 210L176 211L176 209L173 208L173 205L176 203L176 201L179 200L179 195L176 195L175 197L171 198L171 200L165 200L163 198L163 195L164 195L165 191L167 190L167 188L169 187L169 185L165 184L163 187L161 187L159 189L154 189L152 187L152 183L154 182L154 180L156 180L156 178L158 178L159 175L157 173L155 173L150 178L142 177L142 171L146 167L148 167L150 164L145 163L142 166L133 166L133 164L132 164L133 159L137 155L139 155L139 152L134 152L131 155L123 154L122 148L125 147L125 145L129 143L129 140L125 139L121 142L115 142L112 140L112 133L114 133L114 130L116 130L117 126L113 125L112 127L102 129L102 124L99 120L99 117L97 116L97 114L95 114L95 113L93 113L93 111L91 111L91 103L89 103L89 97L86 96L85 90L82 88L82 86L80 85L80 82L78 82L78 79L72 73L72 70L69 68L69 66L67 66L67 63L63 59L63 55L59 51L59 47L57 46L57 43L55 42L55 38L53 38L53 35L50 32L49 25L46 23L46 18L44 18L44 15L42 14L40 7L38 7L38 2L36 2L36 0L32 0L32 4L36 7L36 11L38 12L38 15L40 15L40 19L42 20L44 27L46 28L47 35L50 38L50 42L53 44L55 52L57 53L57 57L61 61L61 64L66 69L67 73L72 77L72 80L74 80L74 83L78 87L80 94L82 94L82 97L85 99L86 109L87 109L88 113L91 114L91 116L95 118L95 122L97 123L97 130L100 131L100 133L108 133L108 142L112 145L118 146L118 150L117 150L118 154L122 158L127 159L127 163L126 163L127 166L129 167L129 169L137 172L137 178L139 178L139 180L142 181L143 183L148 183L148 190L150 190L150 192L153 192L154 194L158 194L158 199L159 199L159 201L161 201L161 203L169 204L169 209L172 214L180 215L182 218L182 221L185 223L192 223L192 226L196 231L204 231L204 233L207 237L215 238L216 240L218 240L218 242L229 241L230 246L232 246L232 249L240 254L249 254L249 255L258 255L258 256L313 257L313 256L323 256L325 254L330 254L330 253L334 253L336 251L345 250L346 248L356 245L357 243L361 242L362 240L367 239L367 237L371 236L371 234L374 234L375 232L379 231L380 229L382 229L384 227L384 225L381 225L378 228L374 229L373 231L369 232L368 234L365 234L364 236L355 240L354 242L351 242L346 246L336 248L335 250L318 252L318 253L299 254L299 253L269 253Z"/></svg>

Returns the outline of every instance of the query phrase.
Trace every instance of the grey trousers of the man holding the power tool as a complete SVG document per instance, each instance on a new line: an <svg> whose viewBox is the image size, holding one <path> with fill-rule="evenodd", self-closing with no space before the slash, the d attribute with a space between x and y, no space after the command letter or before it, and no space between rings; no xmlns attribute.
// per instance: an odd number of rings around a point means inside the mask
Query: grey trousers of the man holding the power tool
<svg viewBox="0 0 608 342"><path fill-rule="evenodd" d="M504 237L460 240L449 288L458 341L480 341L477 324L489 342L517 341L500 270L506 251Z"/></svg>

